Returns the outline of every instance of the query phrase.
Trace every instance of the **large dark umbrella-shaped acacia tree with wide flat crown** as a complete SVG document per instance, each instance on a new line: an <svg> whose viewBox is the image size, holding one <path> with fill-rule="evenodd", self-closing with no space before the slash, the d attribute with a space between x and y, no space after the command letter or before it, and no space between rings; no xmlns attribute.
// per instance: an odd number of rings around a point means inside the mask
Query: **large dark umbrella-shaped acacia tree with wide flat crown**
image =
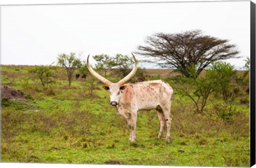
<svg viewBox="0 0 256 168"><path fill-rule="evenodd" d="M196 66L197 77L211 62L238 58L234 44L227 39L203 35L201 30L183 33L157 33L146 38L145 46L138 46L140 55L154 58L149 60L163 68L174 68L182 75L190 77L189 67Z"/></svg>

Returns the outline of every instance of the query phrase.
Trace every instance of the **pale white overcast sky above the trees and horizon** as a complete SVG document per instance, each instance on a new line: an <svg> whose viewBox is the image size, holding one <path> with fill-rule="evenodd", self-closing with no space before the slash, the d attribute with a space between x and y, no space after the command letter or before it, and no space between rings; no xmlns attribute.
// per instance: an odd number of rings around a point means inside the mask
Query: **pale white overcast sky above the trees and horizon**
<svg viewBox="0 0 256 168"><path fill-rule="evenodd" d="M131 55L146 36L194 29L237 45L243 58L228 61L237 68L250 57L249 1L21 5L1 6L1 65L50 65L70 52Z"/></svg>

